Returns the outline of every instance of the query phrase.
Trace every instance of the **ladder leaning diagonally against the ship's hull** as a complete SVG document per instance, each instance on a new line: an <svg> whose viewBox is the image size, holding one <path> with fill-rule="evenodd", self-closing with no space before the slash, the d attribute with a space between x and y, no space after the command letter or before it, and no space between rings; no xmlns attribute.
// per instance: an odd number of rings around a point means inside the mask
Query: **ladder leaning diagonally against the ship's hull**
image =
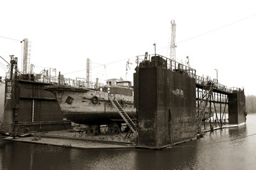
<svg viewBox="0 0 256 170"><path fill-rule="evenodd" d="M136 132L138 130L137 126L135 125L134 121L132 121L132 119L129 117L129 115L127 115L127 113L124 111L122 106L119 105L118 101L112 100L110 98L110 102L112 103L114 108L117 108L119 115L121 115L121 117L124 119L124 122L127 123L130 130L132 130L132 132L134 132L136 134Z"/></svg>

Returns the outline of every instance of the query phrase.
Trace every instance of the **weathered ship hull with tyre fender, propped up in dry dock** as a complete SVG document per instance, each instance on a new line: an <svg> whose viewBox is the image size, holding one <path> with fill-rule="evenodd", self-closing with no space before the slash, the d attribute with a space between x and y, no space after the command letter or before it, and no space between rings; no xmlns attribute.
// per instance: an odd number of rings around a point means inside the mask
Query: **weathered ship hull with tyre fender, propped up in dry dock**
<svg viewBox="0 0 256 170"><path fill-rule="evenodd" d="M124 123L109 98L119 101L124 111L132 118L136 118L133 89L129 87L110 86L102 90L58 85L48 86L46 90L55 94L63 115L74 123L85 125Z"/></svg>

